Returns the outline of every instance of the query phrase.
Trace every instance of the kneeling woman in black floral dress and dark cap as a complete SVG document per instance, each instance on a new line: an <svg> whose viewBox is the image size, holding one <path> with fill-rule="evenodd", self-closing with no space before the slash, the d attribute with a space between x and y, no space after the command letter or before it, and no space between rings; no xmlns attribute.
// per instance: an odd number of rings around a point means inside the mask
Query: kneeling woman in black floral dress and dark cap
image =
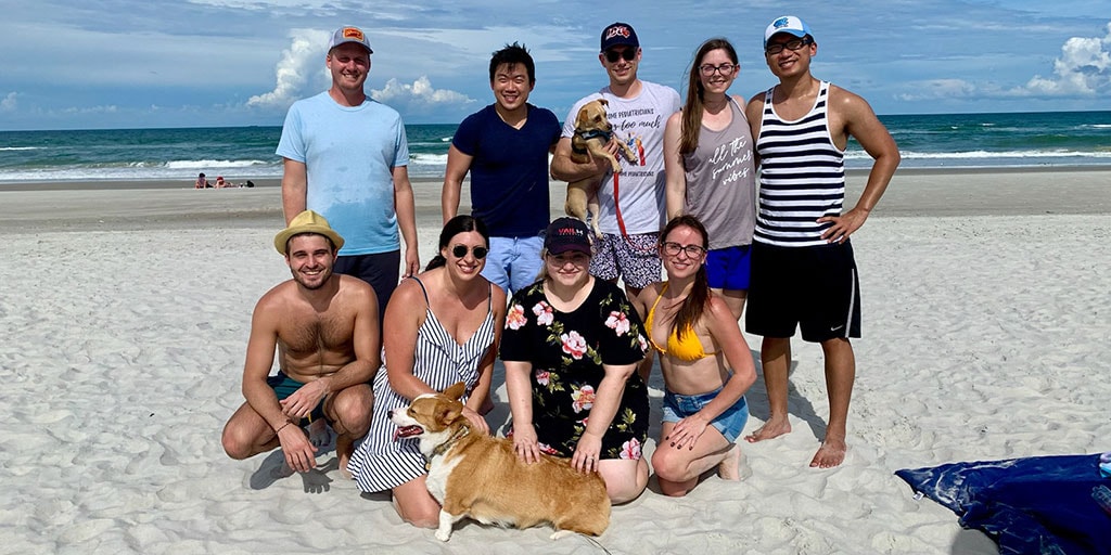
<svg viewBox="0 0 1111 555"><path fill-rule="evenodd" d="M590 232L572 218L548 226L544 278L509 305L501 359L513 413L513 448L571 457L605 480L610 500L648 484L648 390L635 372L647 342L615 284L590 275Z"/></svg>

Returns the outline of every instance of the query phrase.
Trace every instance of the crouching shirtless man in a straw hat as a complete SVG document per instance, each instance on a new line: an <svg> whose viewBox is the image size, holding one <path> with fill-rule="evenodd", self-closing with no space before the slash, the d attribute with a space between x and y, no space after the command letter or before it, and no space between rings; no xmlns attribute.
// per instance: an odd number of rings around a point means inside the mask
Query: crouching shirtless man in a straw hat
<svg viewBox="0 0 1111 555"><path fill-rule="evenodd" d="M301 426L324 418L347 473L356 440L370 428L369 383L381 345L374 290L332 273L341 246L343 238L311 210L274 236L293 279L254 306L243 367L247 403L223 428L228 456L243 460L280 446L290 468L308 472L317 466L317 447ZM281 371L269 376L276 347Z"/></svg>

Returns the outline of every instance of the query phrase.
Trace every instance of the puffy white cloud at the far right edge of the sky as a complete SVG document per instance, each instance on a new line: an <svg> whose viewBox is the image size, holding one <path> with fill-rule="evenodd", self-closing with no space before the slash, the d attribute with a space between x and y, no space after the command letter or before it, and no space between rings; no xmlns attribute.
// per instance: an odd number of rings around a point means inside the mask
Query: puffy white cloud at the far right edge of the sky
<svg viewBox="0 0 1111 555"><path fill-rule="evenodd" d="M1111 22L1103 38L1073 37L1053 61L1053 75L1034 75L1025 91L1051 95L1094 95L1111 92ZM1020 89L1023 90L1023 89Z"/></svg>

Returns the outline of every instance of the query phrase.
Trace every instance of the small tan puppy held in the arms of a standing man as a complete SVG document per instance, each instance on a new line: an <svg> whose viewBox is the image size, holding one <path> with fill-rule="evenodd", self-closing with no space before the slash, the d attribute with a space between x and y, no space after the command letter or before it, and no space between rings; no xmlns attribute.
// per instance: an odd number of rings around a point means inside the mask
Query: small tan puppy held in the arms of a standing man
<svg viewBox="0 0 1111 555"><path fill-rule="evenodd" d="M605 99L591 100L579 109L579 115L574 119L574 134L571 135L571 160L577 163L587 163L593 158L604 158L610 161L613 173L621 173L621 163L613 154L605 150L610 138L613 135L613 125L605 118L605 107L609 102ZM621 153L630 162L637 162L637 153L629 148L624 141L618 139L621 145ZM587 221L587 211L591 214L591 226L594 234L602 236L598 229L598 185L600 178L590 178L580 181L572 181L567 184L567 203L563 211L567 215L572 215Z"/></svg>

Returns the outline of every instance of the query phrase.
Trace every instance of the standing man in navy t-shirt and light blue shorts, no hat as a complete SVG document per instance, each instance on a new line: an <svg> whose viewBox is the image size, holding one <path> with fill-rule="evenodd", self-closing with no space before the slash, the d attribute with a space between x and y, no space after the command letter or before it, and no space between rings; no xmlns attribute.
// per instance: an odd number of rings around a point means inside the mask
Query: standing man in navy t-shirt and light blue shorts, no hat
<svg viewBox="0 0 1111 555"><path fill-rule="evenodd" d="M471 215L490 232L482 275L509 292L533 283L540 272L541 233L549 221L548 154L561 130L554 113L528 103L536 84L536 64L523 46L494 52L496 102L459 124L443 176L447 223L459 211L463 178L471 173Z"/></svg>

